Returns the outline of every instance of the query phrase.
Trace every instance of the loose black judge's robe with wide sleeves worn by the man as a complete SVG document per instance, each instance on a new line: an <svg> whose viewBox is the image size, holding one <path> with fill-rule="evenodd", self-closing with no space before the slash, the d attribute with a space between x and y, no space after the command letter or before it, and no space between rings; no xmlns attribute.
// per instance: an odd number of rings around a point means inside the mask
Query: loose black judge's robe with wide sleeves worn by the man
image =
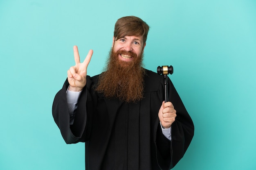
<svg viewBox="0 0 256 170"><path fill-rule="evenodd" d="M137 103L108 100L94 91L99 75L87 84L70 125L66 90L56 94L52 113L67 144L85 142L86 170L169 170L183 157L194 125L168 78L169 101L177 111L171 141L162 134L158 111L164 100L164 78L146 70L144 98Z"/></svg>

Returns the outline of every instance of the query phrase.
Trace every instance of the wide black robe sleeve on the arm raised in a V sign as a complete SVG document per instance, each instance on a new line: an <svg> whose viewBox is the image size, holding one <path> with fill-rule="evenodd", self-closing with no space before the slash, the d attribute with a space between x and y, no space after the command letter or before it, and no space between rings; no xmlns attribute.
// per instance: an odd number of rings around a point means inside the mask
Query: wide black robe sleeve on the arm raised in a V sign
<svg viewBox="0 0 256 170"><path fill-rule="evenodd" d="M85 142L90 137L91 115L87 114L92 110L92 98L88 91L91 81L87 81L86 86L81 92L75 110L74 123L70 125L70 114L68 112L66 91L68 81L66 80L62 89L56 94L52 105L52 115L55 123L61 131L61 135L67 144ZM88 95L89 94L89 95Z"/></svg>

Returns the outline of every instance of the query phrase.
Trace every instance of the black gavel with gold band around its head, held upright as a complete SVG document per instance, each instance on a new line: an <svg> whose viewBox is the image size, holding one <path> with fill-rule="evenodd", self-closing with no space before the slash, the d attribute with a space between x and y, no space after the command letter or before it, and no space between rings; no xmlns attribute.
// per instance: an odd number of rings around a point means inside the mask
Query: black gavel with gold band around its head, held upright
<svg viewBox="0 0 256 170"><path fill-rule="evenodd" d="M164 65L157 67L157 74L164 75L164 102L168 102L167 74L173 74L173 66Z"/></svg>

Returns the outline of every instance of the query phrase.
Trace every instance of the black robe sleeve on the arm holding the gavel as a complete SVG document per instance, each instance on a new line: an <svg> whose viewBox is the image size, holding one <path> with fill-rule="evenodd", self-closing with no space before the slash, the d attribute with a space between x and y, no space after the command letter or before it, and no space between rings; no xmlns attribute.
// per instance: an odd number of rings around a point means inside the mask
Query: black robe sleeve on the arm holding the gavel
<svg viewBox="0 0 256 170"><path fill-rule="evenodd" d="M162 92L160 94L164 95ZM171 125L171 141L162 134L159 120L155 125L157 162L162 170L169 170L180 161L194 135L193 121L169 78L168 99L177 111L175 122Z"/></svg>

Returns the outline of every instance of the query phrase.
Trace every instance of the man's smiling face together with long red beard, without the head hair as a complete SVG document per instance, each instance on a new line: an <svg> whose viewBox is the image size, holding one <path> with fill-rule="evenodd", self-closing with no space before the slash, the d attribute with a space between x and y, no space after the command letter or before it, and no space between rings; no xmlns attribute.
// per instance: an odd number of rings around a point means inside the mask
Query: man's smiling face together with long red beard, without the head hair
<svg viewBox="0 0 256 170"><path fill-rule="evenodd" d="M137 102L143 98L145 43L141 39L142 36L113 39L106 71L99 77L97 92L103 93L106 98L126 102Z"/></svg>

